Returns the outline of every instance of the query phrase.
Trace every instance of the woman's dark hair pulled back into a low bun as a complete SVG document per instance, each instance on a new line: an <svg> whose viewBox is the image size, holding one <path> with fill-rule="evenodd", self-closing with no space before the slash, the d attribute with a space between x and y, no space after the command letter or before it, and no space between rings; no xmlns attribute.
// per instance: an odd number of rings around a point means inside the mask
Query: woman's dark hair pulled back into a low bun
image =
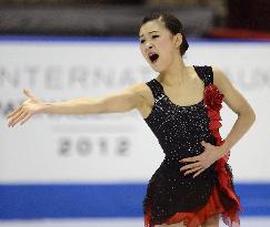
<svg viewBox="0 0 270 227"><path fill-rule="evenodd" d="M183 33L182 23L180 20L178 20L174 16L169 13L153 13L150 16L147 16L142 19L141 25L144 23L152 21L152 20L160 20L164 23L164 27L172 33L181 33L182 35L182 43L180 45L180 54L183 55L186 51L189 49L189 43L187 41L187 38Z"/></svg>

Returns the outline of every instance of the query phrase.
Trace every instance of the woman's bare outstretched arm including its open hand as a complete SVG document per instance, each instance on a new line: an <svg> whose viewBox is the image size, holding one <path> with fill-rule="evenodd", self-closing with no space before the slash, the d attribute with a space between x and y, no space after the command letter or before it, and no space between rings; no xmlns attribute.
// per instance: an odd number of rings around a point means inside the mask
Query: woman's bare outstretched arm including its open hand
<svg viewBox="0 0 270 227"><path fill-rule="evenodd" d="M28 100L8 114L8 125L14 126L19 122L23 124L37 113L97 114L131 111L132 109L139 109L143 102L141 89L141 84L134 84L124 89L122 92L111 93L102 97L81 97L53 103L40 101L30 91L23 90Z"/></svg>

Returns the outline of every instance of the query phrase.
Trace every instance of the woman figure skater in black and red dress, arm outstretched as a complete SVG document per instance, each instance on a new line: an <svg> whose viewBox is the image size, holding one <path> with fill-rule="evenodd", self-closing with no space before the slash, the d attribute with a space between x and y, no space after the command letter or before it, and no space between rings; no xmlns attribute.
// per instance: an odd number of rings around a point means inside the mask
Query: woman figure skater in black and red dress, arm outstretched
<svg viewBox="0 0 270 227"><path fill-rule="evenodd" d="M8 115L9 126L23 124L37 113L137 109L166 154L148 184L144 226L216 227L220 214L228 226L239 226L241 206L227 161L230 148L253 124L253 110L218 68L184 64L189 44L173 16L146 17L139 37L142 55L159 72L156 79L100 99L58 103L44 103L23 90L29 99ZM226 140L219 134L222 101L238 114Z"/></svg>

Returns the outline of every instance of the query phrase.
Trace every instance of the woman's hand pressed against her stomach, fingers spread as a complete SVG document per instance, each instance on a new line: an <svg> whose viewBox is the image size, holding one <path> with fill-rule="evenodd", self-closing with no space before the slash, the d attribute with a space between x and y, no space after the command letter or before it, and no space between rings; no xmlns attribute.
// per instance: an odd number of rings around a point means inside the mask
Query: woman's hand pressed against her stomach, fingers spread
<svg viewBox="0 0 270 227"><path fill-rule="evenodd" d="M198 176L216 161L223 156L223 148L221 146L214 146L204 141L201 142L201 145L204 146L203 153L198 156L187 157L179 161L180 163L190 163L180 168L180 172L186 171L183 174L184 176L192 173L194 173L193 177Z"/></svg>

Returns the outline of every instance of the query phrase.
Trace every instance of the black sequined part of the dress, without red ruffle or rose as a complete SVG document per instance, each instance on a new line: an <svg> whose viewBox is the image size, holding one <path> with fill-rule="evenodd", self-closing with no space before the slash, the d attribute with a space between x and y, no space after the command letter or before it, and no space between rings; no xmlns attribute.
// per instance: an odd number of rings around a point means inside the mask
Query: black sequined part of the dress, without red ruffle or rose
<svg viewBox="0 0 270 227"><path fill-rule="evenodd" d="M204 92L213 82L210 66L194 66L204 83ZM166 223L176 213L192 213L202 208L218 184L218 173L212 164L196 178L184 176L179 163L184 157L203 152L201 141L218 145L218 138L209 127L208 106L203 99L192 105L181 106L173 103L164 93L159 81L147 82L154 97L151 113L144 118L159 141L164 159L149 180L143 199L144 225L151 227Z"/></svg>

